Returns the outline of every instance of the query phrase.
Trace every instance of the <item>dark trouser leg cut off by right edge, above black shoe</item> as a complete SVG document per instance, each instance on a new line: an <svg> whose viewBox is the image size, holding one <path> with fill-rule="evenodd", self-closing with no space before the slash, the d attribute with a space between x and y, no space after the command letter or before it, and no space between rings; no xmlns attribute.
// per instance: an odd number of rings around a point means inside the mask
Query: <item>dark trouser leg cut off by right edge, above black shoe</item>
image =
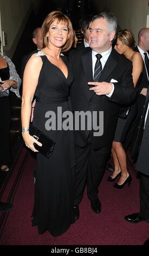
<svg viewBox="0 0 149 256"><path fill-rule="evenodd" d="M140 176L140 215L149 219L149 176Z"/></svg>

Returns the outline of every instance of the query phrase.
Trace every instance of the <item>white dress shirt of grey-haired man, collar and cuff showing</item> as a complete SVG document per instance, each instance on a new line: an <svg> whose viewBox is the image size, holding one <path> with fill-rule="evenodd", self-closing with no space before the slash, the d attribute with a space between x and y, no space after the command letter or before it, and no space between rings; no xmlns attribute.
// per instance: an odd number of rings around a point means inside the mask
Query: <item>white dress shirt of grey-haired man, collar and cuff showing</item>
<svg viewBox="0 0 149 256"><path fill-rule="evenodd" d="M102 65L102 70L103 70L103 68L104 68L104 66L105 66L105 64L106 64L106 62L107 62L107 59L108 59L108 57L109 57L109 54L111 54L111 51L112 51L112 46L111 46L111 48L109 48L108 51L100 53L100 54L102 55L102 58L100 59L100 62L101 62L101 65ZM99 53L99 52L95 52L95 51L92 50L92 69L93 69L93 77L94 77L95 64L96 64L96 60L97 60L96 54L98 54L98 53ZM114 84L113 84L113 83L112 83L112 86L113 86L113 89L112 89L111 93L109 93L109 94L106 95L106 96L108 96L108 97L111 97L112 94L113 94L113 92L114 92Z"/></svg>

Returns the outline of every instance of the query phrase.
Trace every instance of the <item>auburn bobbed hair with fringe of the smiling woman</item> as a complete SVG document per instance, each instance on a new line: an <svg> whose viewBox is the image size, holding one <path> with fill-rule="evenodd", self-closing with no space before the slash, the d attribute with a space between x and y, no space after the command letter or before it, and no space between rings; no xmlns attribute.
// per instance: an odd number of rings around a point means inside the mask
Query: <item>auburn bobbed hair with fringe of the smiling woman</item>
<svg viewBox="0 0 149 256"><path fill-rule="evenodd" d="M46 46L48 47L49 40L48 40L47 33L49 32L50 25L55 20L57 22L64 23L64 25L68 27L68 38L66 43L62 46L62 50L61 50L62 52L67 52L72 46L73 40L74 40L73 26L70 19L65 14L61 13L61 11L52 11L51 13L48 14L48 16L43 22L43 25L42 25L43 48L45 48Z"/></svg>

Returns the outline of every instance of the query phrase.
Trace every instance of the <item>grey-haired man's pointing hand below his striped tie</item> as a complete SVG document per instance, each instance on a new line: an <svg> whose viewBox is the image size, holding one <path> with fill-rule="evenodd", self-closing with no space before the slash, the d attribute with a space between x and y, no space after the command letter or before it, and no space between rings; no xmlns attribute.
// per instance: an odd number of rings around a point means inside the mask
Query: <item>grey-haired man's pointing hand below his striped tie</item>
<svg viewBox="0 0 149 256"><path fill-rule="evenodd" d="M92 88L89 88L89 90L94 90L96 95L108 95L111 93L113 89L112 83L107 82L88 82L89 85L95 86Z"/></svg>

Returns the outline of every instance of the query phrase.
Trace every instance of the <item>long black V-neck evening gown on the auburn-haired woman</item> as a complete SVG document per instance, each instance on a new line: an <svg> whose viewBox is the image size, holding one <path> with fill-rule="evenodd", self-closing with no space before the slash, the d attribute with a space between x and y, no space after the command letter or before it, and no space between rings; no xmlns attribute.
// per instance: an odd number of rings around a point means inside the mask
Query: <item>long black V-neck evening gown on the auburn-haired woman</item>
<svg viewBox="0 0 149 256"><path fill-rule="evenodd" d="M44 54L43 52L40 52ZM53 236L63 234L74 223L74 135L68 130L46 130L46 121L57 107L63 114L70 110L69 87L73 82L66 57L62 57L68 68L68 77L43 55L42 69L36 89L36 105L33 125L55 141L55 148L49 158L37 153L35 168L35 202L33 225L38 233L49 231ZM46 116L45 116L46 114ZM61 114L60 114L61 115ZM66 118L64 118L66 119ZM59 124L60 125L60 124Z"/></svg>

